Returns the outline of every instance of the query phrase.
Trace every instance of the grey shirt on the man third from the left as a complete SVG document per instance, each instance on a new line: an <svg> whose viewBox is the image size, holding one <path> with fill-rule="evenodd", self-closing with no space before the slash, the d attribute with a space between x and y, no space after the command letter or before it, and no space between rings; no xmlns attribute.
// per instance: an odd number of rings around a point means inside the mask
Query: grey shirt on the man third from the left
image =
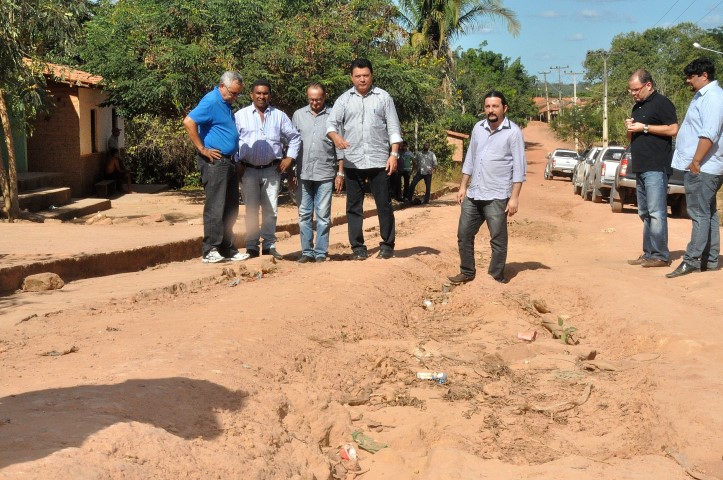
<svg viewBox="0 0 723 480"><path fill-rule="evenodd" d="M301 150L296 157L296 171L302 180L330 180L337 172L334 142L326 136L330 109L324 107L314 115L309 105L298 109L291 123L301 134Z"/></svg>

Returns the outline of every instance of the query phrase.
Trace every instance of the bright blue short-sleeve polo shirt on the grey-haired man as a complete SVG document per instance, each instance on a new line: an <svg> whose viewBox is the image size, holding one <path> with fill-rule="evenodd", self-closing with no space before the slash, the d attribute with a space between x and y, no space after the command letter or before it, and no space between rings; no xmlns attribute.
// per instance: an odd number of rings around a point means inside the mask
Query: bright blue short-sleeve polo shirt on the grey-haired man
<svg viewBox="0 0 723 480"><path fill-rule="evenodd" d="M223 155L233 155L238 149L238 131L231 105L221 97L218 87L208 92L188 114L198 125L203 146L215 148Z"/></svg>

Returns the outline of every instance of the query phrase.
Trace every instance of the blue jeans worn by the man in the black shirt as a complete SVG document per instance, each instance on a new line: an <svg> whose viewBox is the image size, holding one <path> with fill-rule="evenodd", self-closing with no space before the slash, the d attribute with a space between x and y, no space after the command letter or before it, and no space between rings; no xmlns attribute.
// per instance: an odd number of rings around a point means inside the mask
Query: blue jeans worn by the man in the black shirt
<svg viewBox="0 0 723 480"><path fill-rule="evenodd" d="M643 221L643 257L670 261L668 250L668 174L638 173L635 192Z"/></svg>

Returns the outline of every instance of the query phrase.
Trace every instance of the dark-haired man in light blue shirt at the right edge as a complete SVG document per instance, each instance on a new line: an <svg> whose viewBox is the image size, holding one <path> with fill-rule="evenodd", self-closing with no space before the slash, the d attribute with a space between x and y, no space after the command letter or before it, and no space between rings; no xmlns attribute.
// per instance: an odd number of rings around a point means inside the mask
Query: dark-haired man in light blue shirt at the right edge
<svg viewBox="0 0 723 480"><path fill-rule="evenodd" d="M723 184L723 90L707 58L693 60L683 72L695 95L676 138L673 168L685 170L685 200L693 230L683 261L668 278L717 270L720 254L716 193Z"/></svg>

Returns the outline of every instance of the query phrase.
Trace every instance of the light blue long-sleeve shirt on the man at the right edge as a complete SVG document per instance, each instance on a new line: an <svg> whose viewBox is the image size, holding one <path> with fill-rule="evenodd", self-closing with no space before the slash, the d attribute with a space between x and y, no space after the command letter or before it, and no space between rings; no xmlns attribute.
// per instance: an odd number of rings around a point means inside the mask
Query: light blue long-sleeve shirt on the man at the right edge
<svg viewBox="0 0 723 480"><path fill-rule="evenodd" d="M673 168L688 169L701 137L713 142L713 146L700 162L700 171L711 175L723 175L723 90L717 80L710 82L693 95L678 136L675 138Z"/></svg>

